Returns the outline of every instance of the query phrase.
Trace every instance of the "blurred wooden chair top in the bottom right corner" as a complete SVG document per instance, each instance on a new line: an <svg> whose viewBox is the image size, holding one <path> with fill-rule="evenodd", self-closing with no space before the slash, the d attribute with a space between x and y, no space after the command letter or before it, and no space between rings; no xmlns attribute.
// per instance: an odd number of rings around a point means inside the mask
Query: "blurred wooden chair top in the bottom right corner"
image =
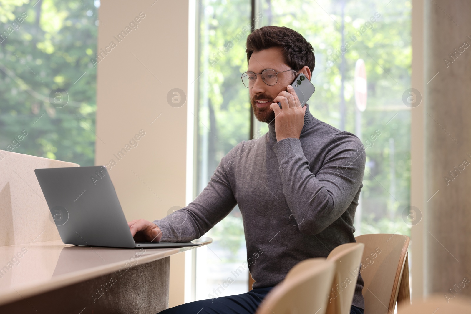
<svg viewBox="0 0 471 314"><path fill-rule="evenodd" d="M469 298L454 297L447 300L443 295L432 295L424 300L413 300L411 306L402 306L398 314L469 314L471 313L471 300Z"/></svg>

